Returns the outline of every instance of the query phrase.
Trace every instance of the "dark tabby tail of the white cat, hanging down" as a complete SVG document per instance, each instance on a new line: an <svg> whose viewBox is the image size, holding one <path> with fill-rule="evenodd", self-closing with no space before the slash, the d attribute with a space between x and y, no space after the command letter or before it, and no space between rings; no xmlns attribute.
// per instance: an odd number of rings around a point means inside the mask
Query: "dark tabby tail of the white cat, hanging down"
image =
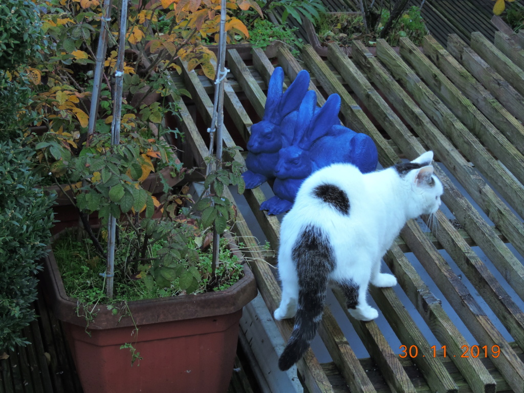
<svg viewBox="0 0 524 393"><path fill-rule="evenodd" d="M278 359L285 371L308 350L322 320L329 274L335 266L331 245L318 227L310 226L293 247L299 279L298 309L289 341Z"/></svg>

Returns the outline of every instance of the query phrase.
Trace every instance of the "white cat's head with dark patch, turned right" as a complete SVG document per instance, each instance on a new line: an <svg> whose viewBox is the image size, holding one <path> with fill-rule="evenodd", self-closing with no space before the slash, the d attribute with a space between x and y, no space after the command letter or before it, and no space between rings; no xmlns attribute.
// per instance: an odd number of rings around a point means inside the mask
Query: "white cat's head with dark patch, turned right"
<svg viewBox="0 0 524 393"><path fill-rule="evenodd" d="M440 197L444 192L442 182L433 173L433 152L427 151L411 162L401 162L394 166L399 176L410 188L412 203L411 216L434 214L441 205Z"/></svg>

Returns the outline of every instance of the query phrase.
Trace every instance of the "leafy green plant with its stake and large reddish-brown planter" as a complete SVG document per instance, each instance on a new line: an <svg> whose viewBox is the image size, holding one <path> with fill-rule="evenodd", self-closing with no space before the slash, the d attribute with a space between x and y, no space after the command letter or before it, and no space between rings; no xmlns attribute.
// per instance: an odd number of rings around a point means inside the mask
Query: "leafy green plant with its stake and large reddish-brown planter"
<svg viewBox="0 0 524 393"><path fill-rule="evenodd" d="M124 82L123 62L119 47L115 96ZM223 191L230 184L242 191L240 169L231 160L210 157L216 169L205 177L202 192L190 195L182 189L154 198L143 187L150 158L166 164L174 152L164 149L160 136L149 138L133 126L127 130L124 107L118 107L119 100L113 104L111 138L88 136L78 155L71 154L76 148L64 134L61 143L41 140L37 145L42 166L69 180L64 191L83 217L81 249L65 252L80 266L73 269L68 258L62 267L64 277L81 280L68 288L89 281L87 294L75 292L83 301L65 291L53 253L42 282L64 323L84 392L225 391L242 307L256 296L256 284L238 260L213 258L210 263L200 251L210 228L222 235L231 224L234 209ZM100 228L85 219L92 213L101 220ZM213 254L227 254L220 249L221 244L213 245Z"/></svg>

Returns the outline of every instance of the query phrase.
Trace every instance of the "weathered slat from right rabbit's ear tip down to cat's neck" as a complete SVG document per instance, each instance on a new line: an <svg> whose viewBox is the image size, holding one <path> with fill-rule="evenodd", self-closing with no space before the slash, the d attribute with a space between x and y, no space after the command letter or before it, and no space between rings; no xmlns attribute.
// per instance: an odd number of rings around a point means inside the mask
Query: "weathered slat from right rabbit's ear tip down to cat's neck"
<svg viewBox="0 0 524 393"><path fill-rule="evenodd" d="M302 57L308 65L311 72L319 80L320 84L328 94L337 93L341 97L341 112L346 118L345 125L355 130L369 135L377 145L379 161L383 165L391 165L389 157L395 155L395 152L387 144L384 138L381 138L380 133L369 118L364 114L364 111L357 105L350 93L344 89L342 83L337 80L333 72L322 61L320 56L314 51L311 45L306 45L302 50Z"/></svg>

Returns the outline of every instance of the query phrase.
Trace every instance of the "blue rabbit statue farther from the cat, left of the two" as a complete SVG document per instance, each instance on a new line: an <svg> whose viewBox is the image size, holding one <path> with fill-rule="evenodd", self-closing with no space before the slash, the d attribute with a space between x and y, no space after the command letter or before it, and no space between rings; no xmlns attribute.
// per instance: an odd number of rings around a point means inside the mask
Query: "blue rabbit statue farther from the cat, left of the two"
<svg viewBox="0 0 524 393"><path fill-rule="evenodd" d="M247 171L242 174L246 188L258 187L274 179L278 152L291 144L292 134L282 135L280 124L287 116L296 117L298 108L309 87L309 73L300 71L285 93L282 93L284 72L275 68L269 80L266 106L262 120L251 126L247 143Z"/></svg>

